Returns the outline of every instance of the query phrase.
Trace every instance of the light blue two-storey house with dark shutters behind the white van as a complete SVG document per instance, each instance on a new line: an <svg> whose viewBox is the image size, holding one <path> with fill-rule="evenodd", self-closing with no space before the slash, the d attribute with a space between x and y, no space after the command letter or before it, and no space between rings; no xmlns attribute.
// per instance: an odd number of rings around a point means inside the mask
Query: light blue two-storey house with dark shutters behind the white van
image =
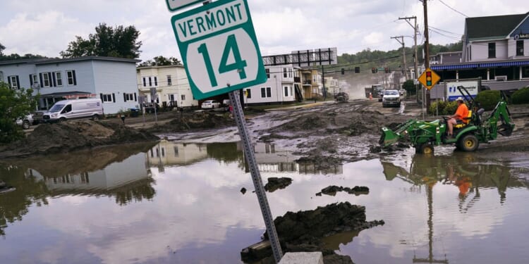
<svg viewBox="0 0 529 264"><path fill-rule="evenodd" d="M12 89L33 88L38 108L68 98L99 97L104 113L138 107L138 60L111 57L45 58L0 62L0 82Z"/></svg>

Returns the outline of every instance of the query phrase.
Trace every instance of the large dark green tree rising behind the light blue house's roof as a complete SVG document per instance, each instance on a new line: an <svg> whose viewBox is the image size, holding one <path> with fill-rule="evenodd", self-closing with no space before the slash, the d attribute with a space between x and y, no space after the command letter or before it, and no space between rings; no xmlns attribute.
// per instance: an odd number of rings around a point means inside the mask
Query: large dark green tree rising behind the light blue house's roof
<svg viewBox="0 0 529 264"><path fill-rule="evenodd" d="M61 51L63 58L80 56L109 56L117 58L138 58L142 42L137 39L140 32L134 26L109 27L105 23L95 27L95 34L88 39L75 36L75 41L68 44L66 51Z"/></svg>

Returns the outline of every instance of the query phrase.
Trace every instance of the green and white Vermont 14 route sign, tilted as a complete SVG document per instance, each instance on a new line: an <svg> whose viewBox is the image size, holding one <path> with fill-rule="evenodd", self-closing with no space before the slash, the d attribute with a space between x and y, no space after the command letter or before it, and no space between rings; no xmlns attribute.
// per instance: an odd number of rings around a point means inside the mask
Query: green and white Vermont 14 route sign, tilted
<svg viewBox="0 0 529 264"><path fill-rule="evenodd" d="M171 18L195 99L267 81L246 0L219 0Z"/></svg>

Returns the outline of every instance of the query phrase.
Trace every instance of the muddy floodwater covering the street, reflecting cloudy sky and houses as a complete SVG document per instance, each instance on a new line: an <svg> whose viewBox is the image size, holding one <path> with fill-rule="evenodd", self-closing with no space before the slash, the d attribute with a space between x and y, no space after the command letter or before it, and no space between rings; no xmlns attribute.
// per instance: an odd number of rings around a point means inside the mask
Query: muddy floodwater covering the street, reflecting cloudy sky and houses
<svg viewBox="0 0 529 264"><path fill-rule="evenodd" d="M527 164L411 151L315 170L257 144L272 215L349 201L386 225L325 239L355 263L525 263ZM525 166L525 167L524 167ZM0 263L240 263L264 223L241 146L121 146L0 163ZM367 195L337 185L370 188ZM248 189L245 194L241 188Z"/></svg>

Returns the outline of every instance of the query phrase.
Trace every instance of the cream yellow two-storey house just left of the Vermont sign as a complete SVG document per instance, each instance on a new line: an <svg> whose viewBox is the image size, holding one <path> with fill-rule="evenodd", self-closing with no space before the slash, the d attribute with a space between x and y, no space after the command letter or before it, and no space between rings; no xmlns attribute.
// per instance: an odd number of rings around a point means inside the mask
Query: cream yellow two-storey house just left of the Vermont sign
<svg viewBox="0 0 529 264"><path fill-rule="evenodd" d="M160 106L198 106L189 86L183 65L140 67L136 70L138 90L145 101L156 101ZM150 89L156 89L152 98Z"/></svg>

